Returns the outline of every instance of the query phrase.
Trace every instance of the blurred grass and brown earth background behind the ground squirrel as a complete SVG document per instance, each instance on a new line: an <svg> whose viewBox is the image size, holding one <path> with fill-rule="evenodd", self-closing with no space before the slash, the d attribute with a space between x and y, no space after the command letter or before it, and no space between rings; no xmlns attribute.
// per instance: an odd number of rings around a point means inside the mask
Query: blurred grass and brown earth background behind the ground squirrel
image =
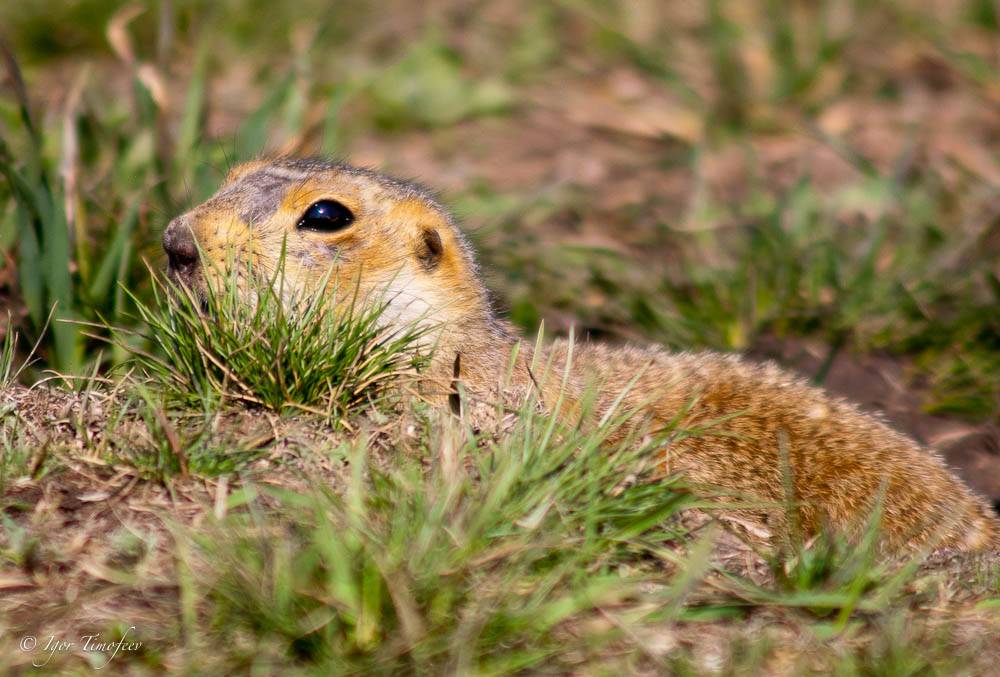
<svg viewBox="0 0 1000 677"><path fill-rule="evenodd" d="M322 154L439 190L525 332L779 359L953 447L1000 498L998 17L3 3L7 331L41 337L35 375L107 369L123 356L66 320L134 324L122 286L148 293L173 215L234 163Z"/></svg>

